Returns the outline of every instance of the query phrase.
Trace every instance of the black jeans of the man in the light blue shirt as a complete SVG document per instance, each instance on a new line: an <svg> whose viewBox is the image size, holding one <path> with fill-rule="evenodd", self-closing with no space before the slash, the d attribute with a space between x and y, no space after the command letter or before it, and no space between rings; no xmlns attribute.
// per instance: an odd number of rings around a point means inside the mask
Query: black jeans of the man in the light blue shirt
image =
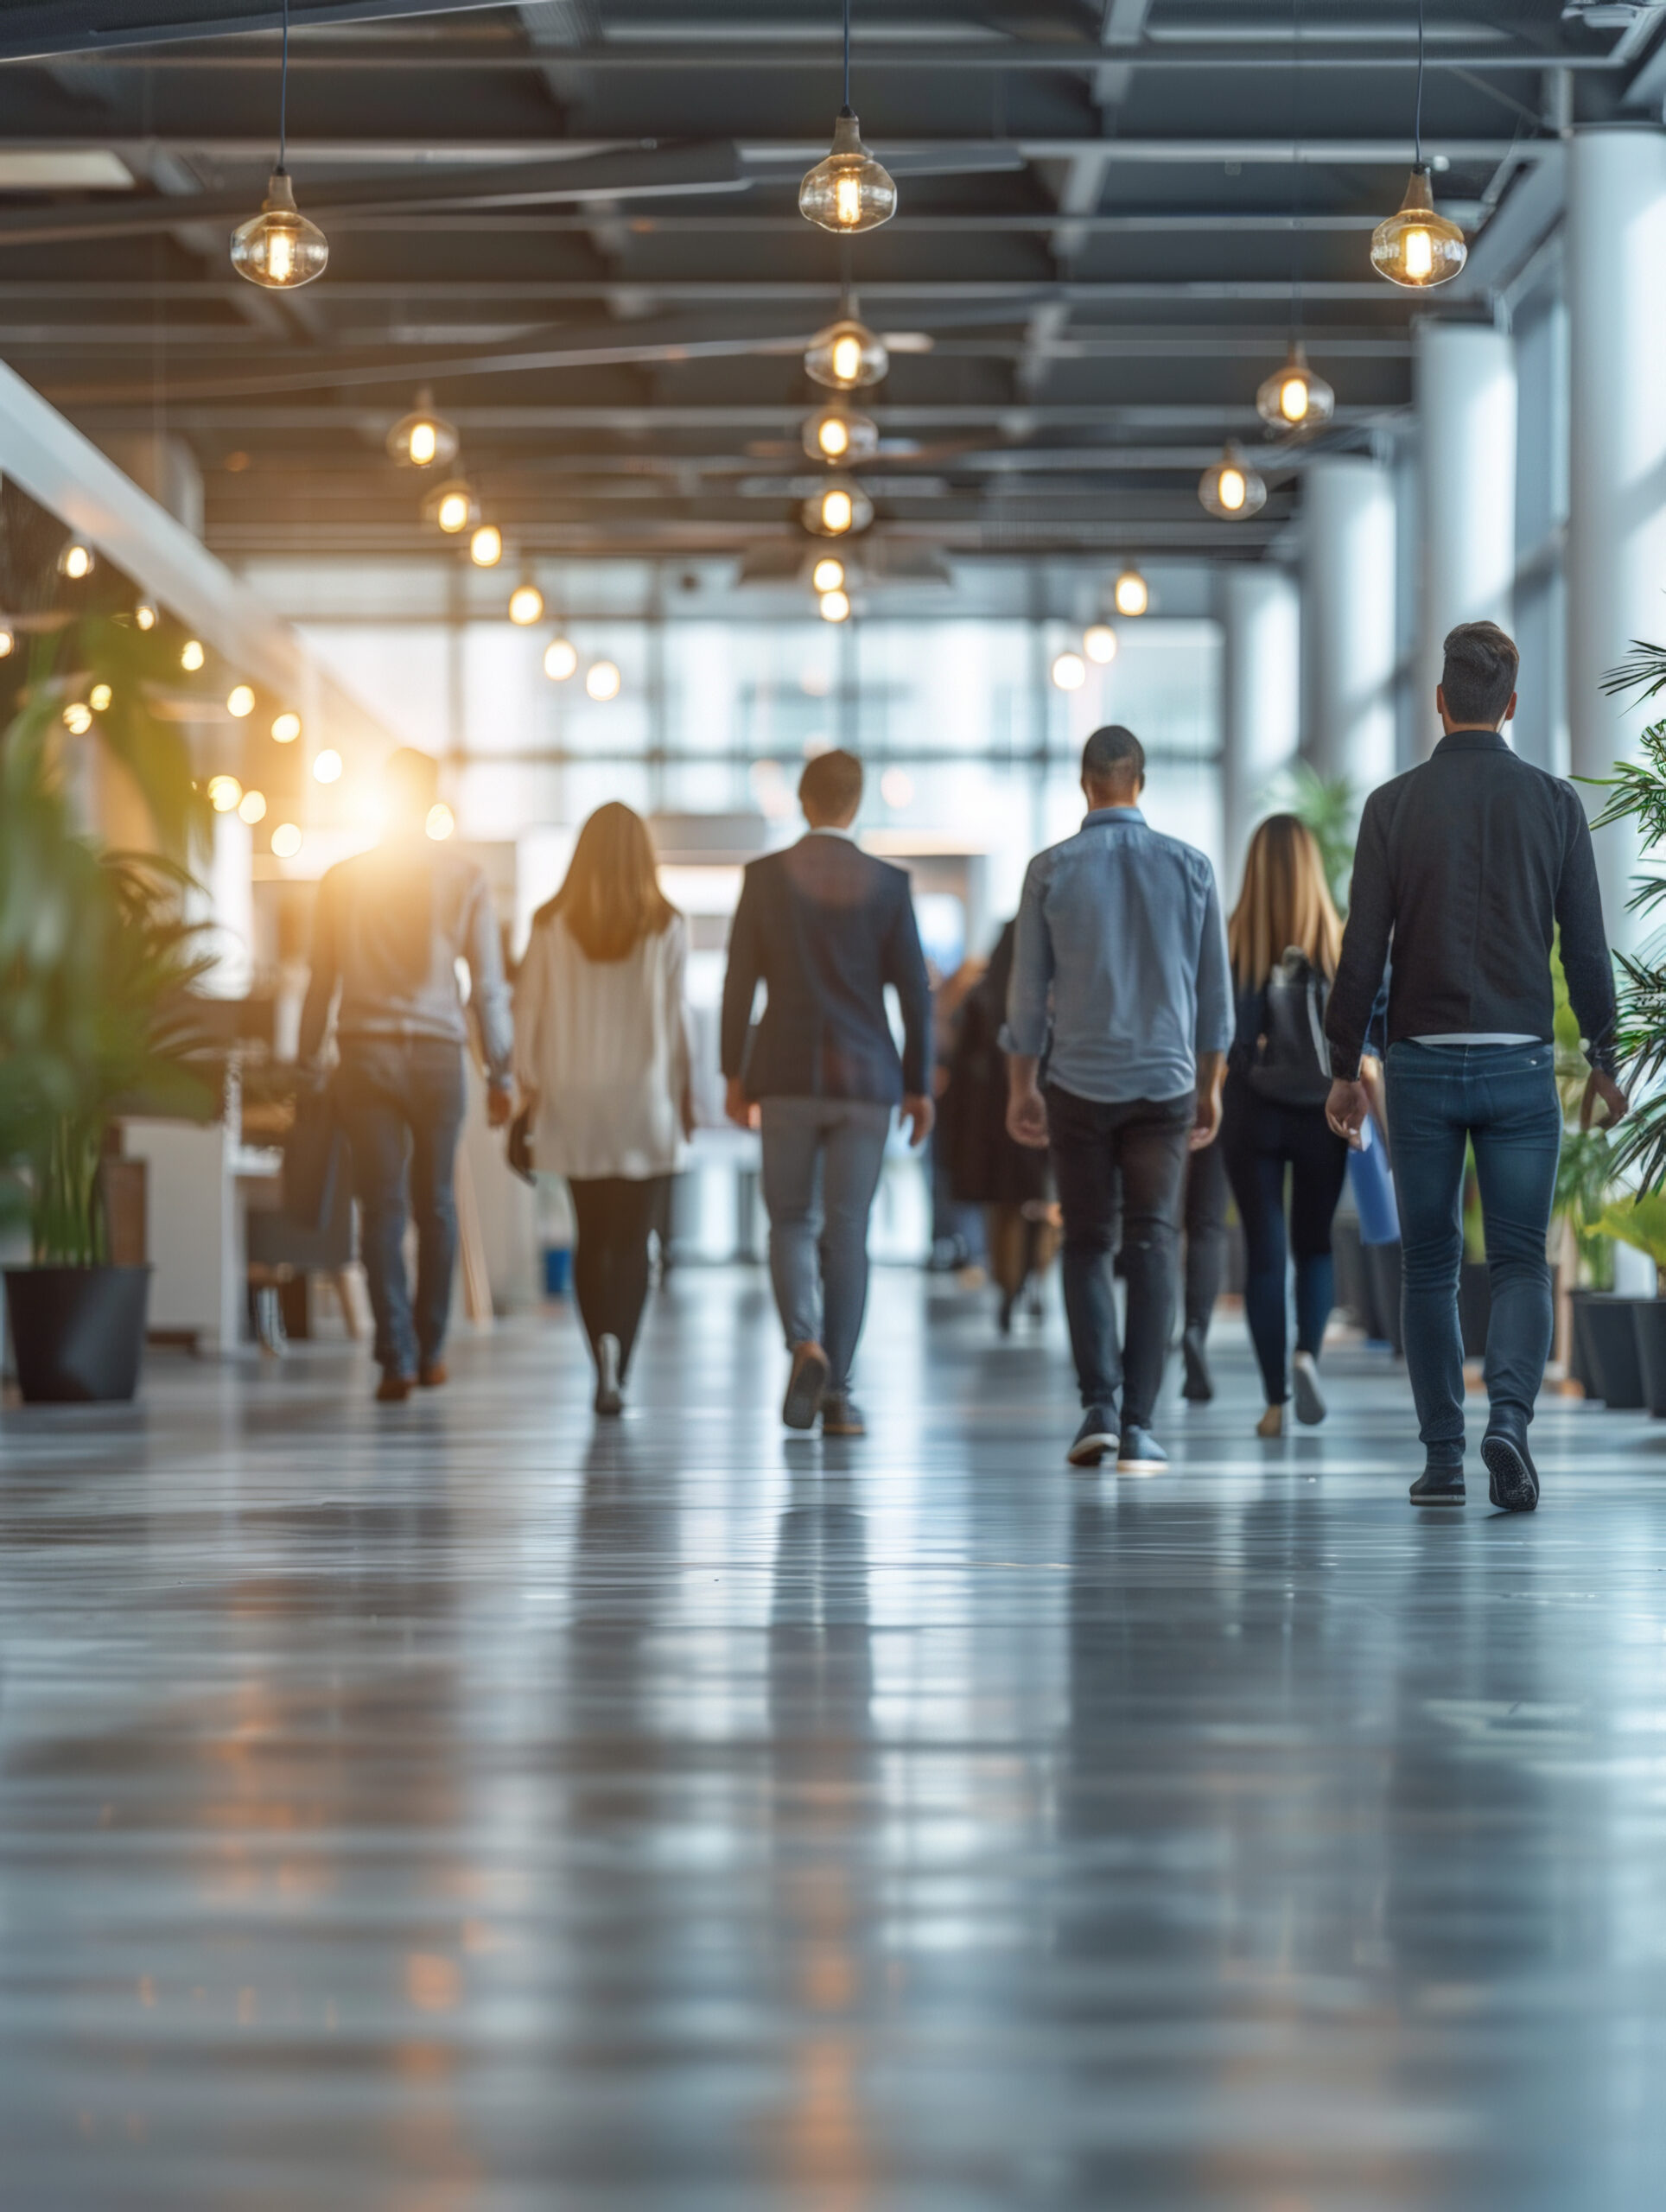
<svg viewBox="0 0 1666 2212"><path fill-rule="evenodd" d="M1195 1093L1106 1106L1047 1086L1053 1179L1064 1212L1064 1316L1084 1407L1150 1427L1175 1314L1175 1221ZM1122 1232L1128 1345L1117 1347L1111 1254ZM1126 1371L1126 1380L1124 1380Z"/></svg>

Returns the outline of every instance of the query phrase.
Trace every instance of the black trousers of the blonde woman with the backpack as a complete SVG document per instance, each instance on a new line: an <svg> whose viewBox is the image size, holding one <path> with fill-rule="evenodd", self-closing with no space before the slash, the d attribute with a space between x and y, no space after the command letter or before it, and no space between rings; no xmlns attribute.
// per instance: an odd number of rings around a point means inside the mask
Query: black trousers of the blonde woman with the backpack
<svg viewBox="0 0 1666 2212"><path fill-rule="evenodd" d="M1226 1079L1219 1148L1243 1223L1243 1312L1268 1405L1290 1396L1285 1267L1297 1261L1297 1352L1319 1358L1336 1301L1330 1223L1347 1181L1347 1144L1323 1106L1279 1106L1239 1075ZM1290 1239L1283 1179L1290 1168Z"/></svg>

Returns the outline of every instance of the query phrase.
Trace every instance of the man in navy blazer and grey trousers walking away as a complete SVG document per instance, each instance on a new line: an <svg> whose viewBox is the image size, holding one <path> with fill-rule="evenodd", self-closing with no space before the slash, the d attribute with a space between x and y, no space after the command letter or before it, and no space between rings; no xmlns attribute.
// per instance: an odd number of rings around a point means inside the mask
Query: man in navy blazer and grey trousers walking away
<svg viewBox="0 0 1666 2212"><path fill-rule="evenodd" d="M867 1214L892 1110L912 1141L931 1133L931 987L909 880L874 860L850 825L863 763L823 752L803 772L810 834L746 872L723 980L728 1117L763 1130L770 1279L792 1374L790 1429L861 1436L850 1363L867 1303ZM752 1000L768 1002L757 1029ZM903 1009L898 1055L885 987ZM757 1113L754 1113L757 1108Z"/></svg>

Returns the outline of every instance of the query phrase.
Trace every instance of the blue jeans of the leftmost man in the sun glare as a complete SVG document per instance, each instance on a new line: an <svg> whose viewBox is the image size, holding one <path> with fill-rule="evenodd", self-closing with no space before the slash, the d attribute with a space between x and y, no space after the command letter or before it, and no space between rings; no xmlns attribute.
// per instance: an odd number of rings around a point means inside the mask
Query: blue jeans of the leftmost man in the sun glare
<svg viewBox="0 0 1666 2212"><path fill-rule="evenodd" d="M451 1314L462 1046L442 1037L347 1037L334 1093L352 1146L376 1360L387 1374L414 1376L418 1360L438 1360ZM407 1159L416 1310L405 1281Z"/></svg>

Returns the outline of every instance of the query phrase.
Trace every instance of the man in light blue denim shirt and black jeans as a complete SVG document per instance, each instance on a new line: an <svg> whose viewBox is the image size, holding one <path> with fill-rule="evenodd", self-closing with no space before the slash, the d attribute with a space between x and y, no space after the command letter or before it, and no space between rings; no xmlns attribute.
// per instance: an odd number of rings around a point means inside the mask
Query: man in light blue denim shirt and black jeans
<svg viewBox="0 0 1666 2212"><path fill-rule="evenodd" d="M1002 1044L1007 1128L1053 1150L1064 1312L1082 1385L1075 1467L1166 1464L1150 1436L1175 1305L1188 1150L1215 1141L1232 984L1215 869L1139 812L1146 752L1111 723L1082 750L1089 816L1038 854L1018 909ZM1042 1093L1042 1057L1047 1091ZM1128 1276L1126 1369L1111 1252Z"/></svg>

